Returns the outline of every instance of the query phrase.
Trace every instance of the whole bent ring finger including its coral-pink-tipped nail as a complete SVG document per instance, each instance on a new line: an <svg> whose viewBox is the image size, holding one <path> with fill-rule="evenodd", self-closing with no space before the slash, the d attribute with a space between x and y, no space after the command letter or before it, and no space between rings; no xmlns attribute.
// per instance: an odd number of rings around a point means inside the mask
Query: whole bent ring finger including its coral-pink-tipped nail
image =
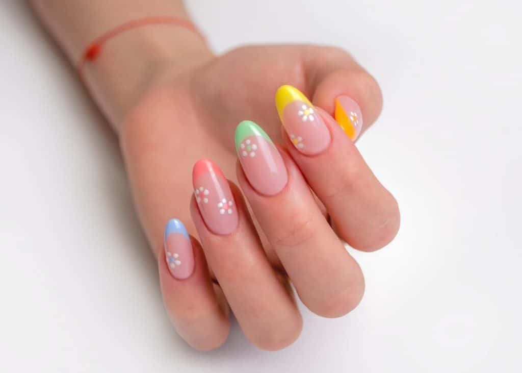
<svg viewBox="0 0 522 373"><path fill-rule="evenodd" d="M301 314L268 262L241 193L206 159L196 162L193 184L192 218L241 329L259 348L286 347L301 332Z"/></svg>

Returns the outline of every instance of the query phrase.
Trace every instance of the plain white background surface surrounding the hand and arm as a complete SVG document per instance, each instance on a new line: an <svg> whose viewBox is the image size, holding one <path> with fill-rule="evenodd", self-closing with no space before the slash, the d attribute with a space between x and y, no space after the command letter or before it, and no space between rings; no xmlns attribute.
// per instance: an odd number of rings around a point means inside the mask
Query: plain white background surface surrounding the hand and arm
<svg viewBox="0 0 522 373"><path fill-rule="evenodd" d="M354 253L355 311L303 308L276 353L235 323L210 353L172 331L117 141L24 3L0 10L0 371L522 370L520 2L189 2L217 51L336 44L384 92L358 146L400 233Z"/></svg>

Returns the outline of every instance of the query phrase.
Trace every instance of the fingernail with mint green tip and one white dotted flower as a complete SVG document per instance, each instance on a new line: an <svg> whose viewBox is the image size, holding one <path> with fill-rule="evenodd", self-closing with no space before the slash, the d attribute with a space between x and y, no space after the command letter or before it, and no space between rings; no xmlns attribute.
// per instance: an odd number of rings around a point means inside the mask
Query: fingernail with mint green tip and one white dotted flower
<svg viewBox="0 0 522 373"><path fill-rule="evenodd" d="M288 182L287 168L265 131L252 121L235 129L235 149L252 187L264 195L279 193Z"/></svg>

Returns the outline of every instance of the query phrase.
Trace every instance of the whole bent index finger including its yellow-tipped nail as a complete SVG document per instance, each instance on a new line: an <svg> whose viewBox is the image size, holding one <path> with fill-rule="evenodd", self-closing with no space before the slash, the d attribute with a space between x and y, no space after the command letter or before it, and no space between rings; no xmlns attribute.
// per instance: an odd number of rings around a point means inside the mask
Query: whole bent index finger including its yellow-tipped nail
<svg viewBox="0 0 522 373"><path fill-rule="evenodd" d="M290 155L323 202L338 234L363 251L382 248L397 234L397 202L370 170L337 122L296 88L282 86L276 102ZM348 109L350 123L357 113ZM343 132L345 130L345 132ZM284 138L283 137L283 138Z"/></svg>

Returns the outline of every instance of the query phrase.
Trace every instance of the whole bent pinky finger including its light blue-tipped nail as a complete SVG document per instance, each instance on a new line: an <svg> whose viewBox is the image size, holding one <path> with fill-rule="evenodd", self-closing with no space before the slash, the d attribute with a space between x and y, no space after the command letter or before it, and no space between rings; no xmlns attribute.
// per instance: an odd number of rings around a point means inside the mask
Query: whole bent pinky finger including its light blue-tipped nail
<svg viewBox="0 0 522 373"><path fill-rule="evenodd" d="M164 247L158 255L161 293L176 332L200 351L221 346L230 329L228 309L220 305L201 246L172 219Z"/></svg>

